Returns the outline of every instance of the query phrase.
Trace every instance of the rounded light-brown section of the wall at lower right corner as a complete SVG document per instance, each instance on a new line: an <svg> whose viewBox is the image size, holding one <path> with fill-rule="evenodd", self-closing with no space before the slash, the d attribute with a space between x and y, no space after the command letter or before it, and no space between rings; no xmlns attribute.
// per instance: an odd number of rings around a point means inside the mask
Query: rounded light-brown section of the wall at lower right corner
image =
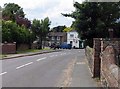
<svg viewBox="0 0 120 89"><path fill-rule="evenodd" d="M118 87L118 66L115 63L115 50L112 46L107 46L101 55L101 83L103 86Z"/></svg>

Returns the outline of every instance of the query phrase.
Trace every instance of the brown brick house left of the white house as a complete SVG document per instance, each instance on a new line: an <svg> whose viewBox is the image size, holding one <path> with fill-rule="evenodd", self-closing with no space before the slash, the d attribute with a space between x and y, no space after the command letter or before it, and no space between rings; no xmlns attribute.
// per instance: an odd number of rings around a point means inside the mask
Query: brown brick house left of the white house
<svg viewBox="0 0 120 89"><path fill-rule="evenodd" d="M64 42L67 42L67 33L66 32L49 32L49 46L53 43L61 45Z"/></svg>

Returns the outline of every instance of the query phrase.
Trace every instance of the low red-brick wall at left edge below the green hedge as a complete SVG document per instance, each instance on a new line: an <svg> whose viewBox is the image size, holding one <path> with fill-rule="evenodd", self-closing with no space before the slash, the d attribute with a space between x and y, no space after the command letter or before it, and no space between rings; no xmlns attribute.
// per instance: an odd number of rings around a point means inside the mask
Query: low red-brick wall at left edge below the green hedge
<svg viewBox="0 0 120 89"><path fill-rule="evenodd" d="M3 54L16 53L16 43L2 43L0 46Z"/></svg>

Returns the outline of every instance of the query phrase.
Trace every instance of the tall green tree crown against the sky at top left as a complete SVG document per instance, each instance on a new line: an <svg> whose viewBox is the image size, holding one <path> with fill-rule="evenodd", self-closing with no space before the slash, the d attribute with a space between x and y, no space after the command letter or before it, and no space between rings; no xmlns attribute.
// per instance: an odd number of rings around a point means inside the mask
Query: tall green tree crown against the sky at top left
<svg viewBox="0 0 120 89"><path fill-rule="evenodd" d="M4 4L2 16L4 20L12 20L15 22L16 16L24 18L25 14L23 12L23 8L18 4L6 3Z"/></svg>

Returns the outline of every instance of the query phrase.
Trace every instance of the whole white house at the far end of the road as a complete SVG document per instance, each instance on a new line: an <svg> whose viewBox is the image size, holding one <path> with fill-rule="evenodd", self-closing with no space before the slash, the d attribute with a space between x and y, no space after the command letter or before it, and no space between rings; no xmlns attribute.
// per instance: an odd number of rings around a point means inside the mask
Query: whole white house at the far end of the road
<svg viewBox="0 0 120 89"><path fill-rule="evenodd" d="M67 32L67 44L71 44L73 48L83 47L83 42L80 40L76 30Z"/></svg>

